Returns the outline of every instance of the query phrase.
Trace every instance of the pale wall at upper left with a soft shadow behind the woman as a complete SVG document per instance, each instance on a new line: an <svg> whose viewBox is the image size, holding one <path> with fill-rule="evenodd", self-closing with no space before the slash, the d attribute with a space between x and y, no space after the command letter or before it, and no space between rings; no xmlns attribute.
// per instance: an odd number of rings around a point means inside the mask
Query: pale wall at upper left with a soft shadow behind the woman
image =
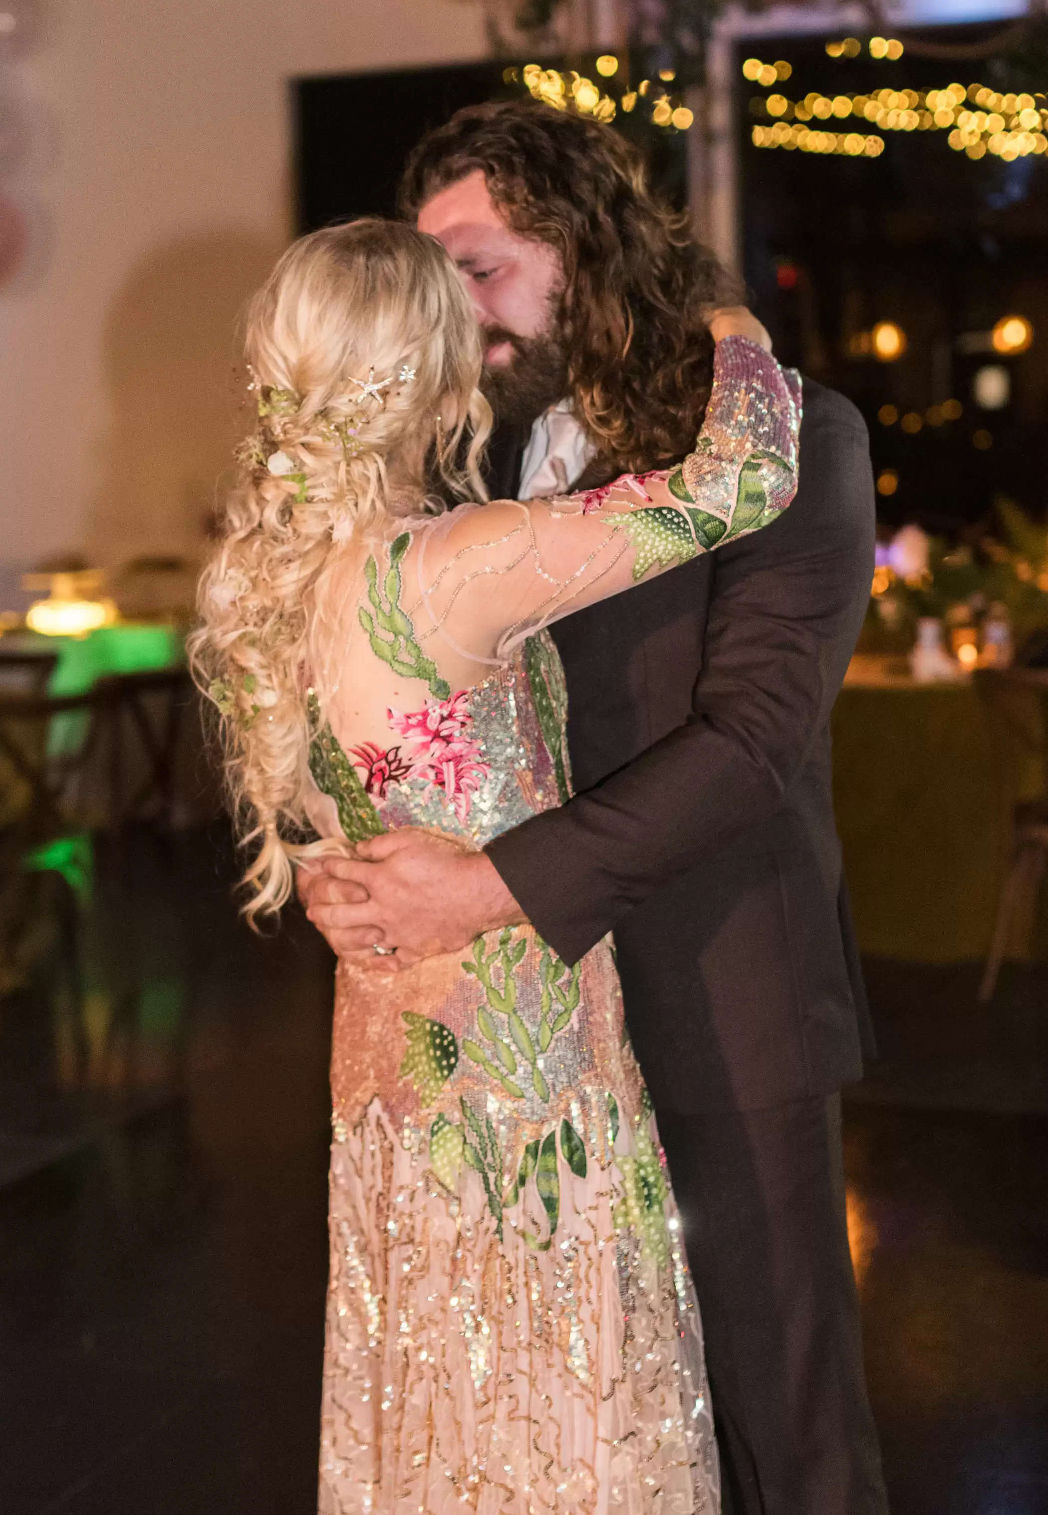
<svg viewBox="0 0 1048 1515"><path fill-rule="evenodd" d="M0 291L0 609L44 556L198 548L245 429L236 314L291 233L288 79L483 52L462 0L50 0L18 71L55 150L14 186L50 247Z"/></svg>

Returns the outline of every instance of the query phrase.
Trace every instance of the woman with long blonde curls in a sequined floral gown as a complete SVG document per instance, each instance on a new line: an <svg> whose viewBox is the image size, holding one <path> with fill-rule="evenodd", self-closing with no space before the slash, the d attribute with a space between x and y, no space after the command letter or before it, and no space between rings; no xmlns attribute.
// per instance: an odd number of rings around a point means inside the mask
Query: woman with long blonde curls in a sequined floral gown
<svg viewBox="0 0 1048 1515"><path fill-rule="evenodd" d="M192 659L256 921L318 851L398 826L476 848L560 804L544 629L774 521L800 383L727 336L680 467L448 511L435 491L485 500L489 411L436 241L303 238L247 353L257 427ZM344 959L332 1098L323 1515L715 1512L698 1304L610 938L574 968L530 926L398 973Z"/></svg>

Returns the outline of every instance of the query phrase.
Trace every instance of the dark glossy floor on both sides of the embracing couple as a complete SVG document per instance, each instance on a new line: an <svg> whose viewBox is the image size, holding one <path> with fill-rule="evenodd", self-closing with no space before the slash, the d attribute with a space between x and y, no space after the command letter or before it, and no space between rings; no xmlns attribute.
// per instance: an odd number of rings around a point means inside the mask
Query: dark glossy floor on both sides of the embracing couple
<svg viewBox="0 0 1048 1515"><path fill-rule="evenodd" d="M313 1515L330 962L242 930L230 871L220 836L100 857L80 1015L58 936L0 1000L3 1515ZM1048 1515L1048 970L977 1009L974 967L868 968L848 1197L892 1509Z"/></svg>

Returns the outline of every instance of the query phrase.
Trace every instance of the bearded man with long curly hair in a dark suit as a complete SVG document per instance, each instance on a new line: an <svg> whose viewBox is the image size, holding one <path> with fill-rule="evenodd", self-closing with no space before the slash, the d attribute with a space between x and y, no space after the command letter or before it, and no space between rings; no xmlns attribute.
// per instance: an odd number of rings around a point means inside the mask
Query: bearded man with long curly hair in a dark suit
<svg viewBox="0 0 1048 1515"><path fill-rule="evenodd" d="M703 309L730 295L619 136L530 103L460 111L416 148L403 205L485 327L492 495L692 447ZM703 1310L724 1509L884 1515L845 1227L839 1089L866 1011L828 730L874 500L862 418L810 382L800 456L775 526L553 627L575 798L483 853L376 838L301 894L336 951L383 971L522 920L569 964L615 932Z"/></svg>

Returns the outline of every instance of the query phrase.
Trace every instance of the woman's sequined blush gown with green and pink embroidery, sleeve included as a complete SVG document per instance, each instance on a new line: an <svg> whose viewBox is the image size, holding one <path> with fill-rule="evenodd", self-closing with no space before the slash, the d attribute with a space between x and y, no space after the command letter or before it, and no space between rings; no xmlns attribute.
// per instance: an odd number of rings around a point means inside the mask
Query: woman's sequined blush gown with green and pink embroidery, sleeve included
<svg viewBox="0 0 1048 1515"><path fill-rule="evenodd" d="M695 453L350 542L315 821L468 847L571 794L551 620L768 524L800 386L718 344ZM556 859L550 859L556 867ZM610 938L339 964L323 1515L718 1509L700 1314Z"/></svg>

